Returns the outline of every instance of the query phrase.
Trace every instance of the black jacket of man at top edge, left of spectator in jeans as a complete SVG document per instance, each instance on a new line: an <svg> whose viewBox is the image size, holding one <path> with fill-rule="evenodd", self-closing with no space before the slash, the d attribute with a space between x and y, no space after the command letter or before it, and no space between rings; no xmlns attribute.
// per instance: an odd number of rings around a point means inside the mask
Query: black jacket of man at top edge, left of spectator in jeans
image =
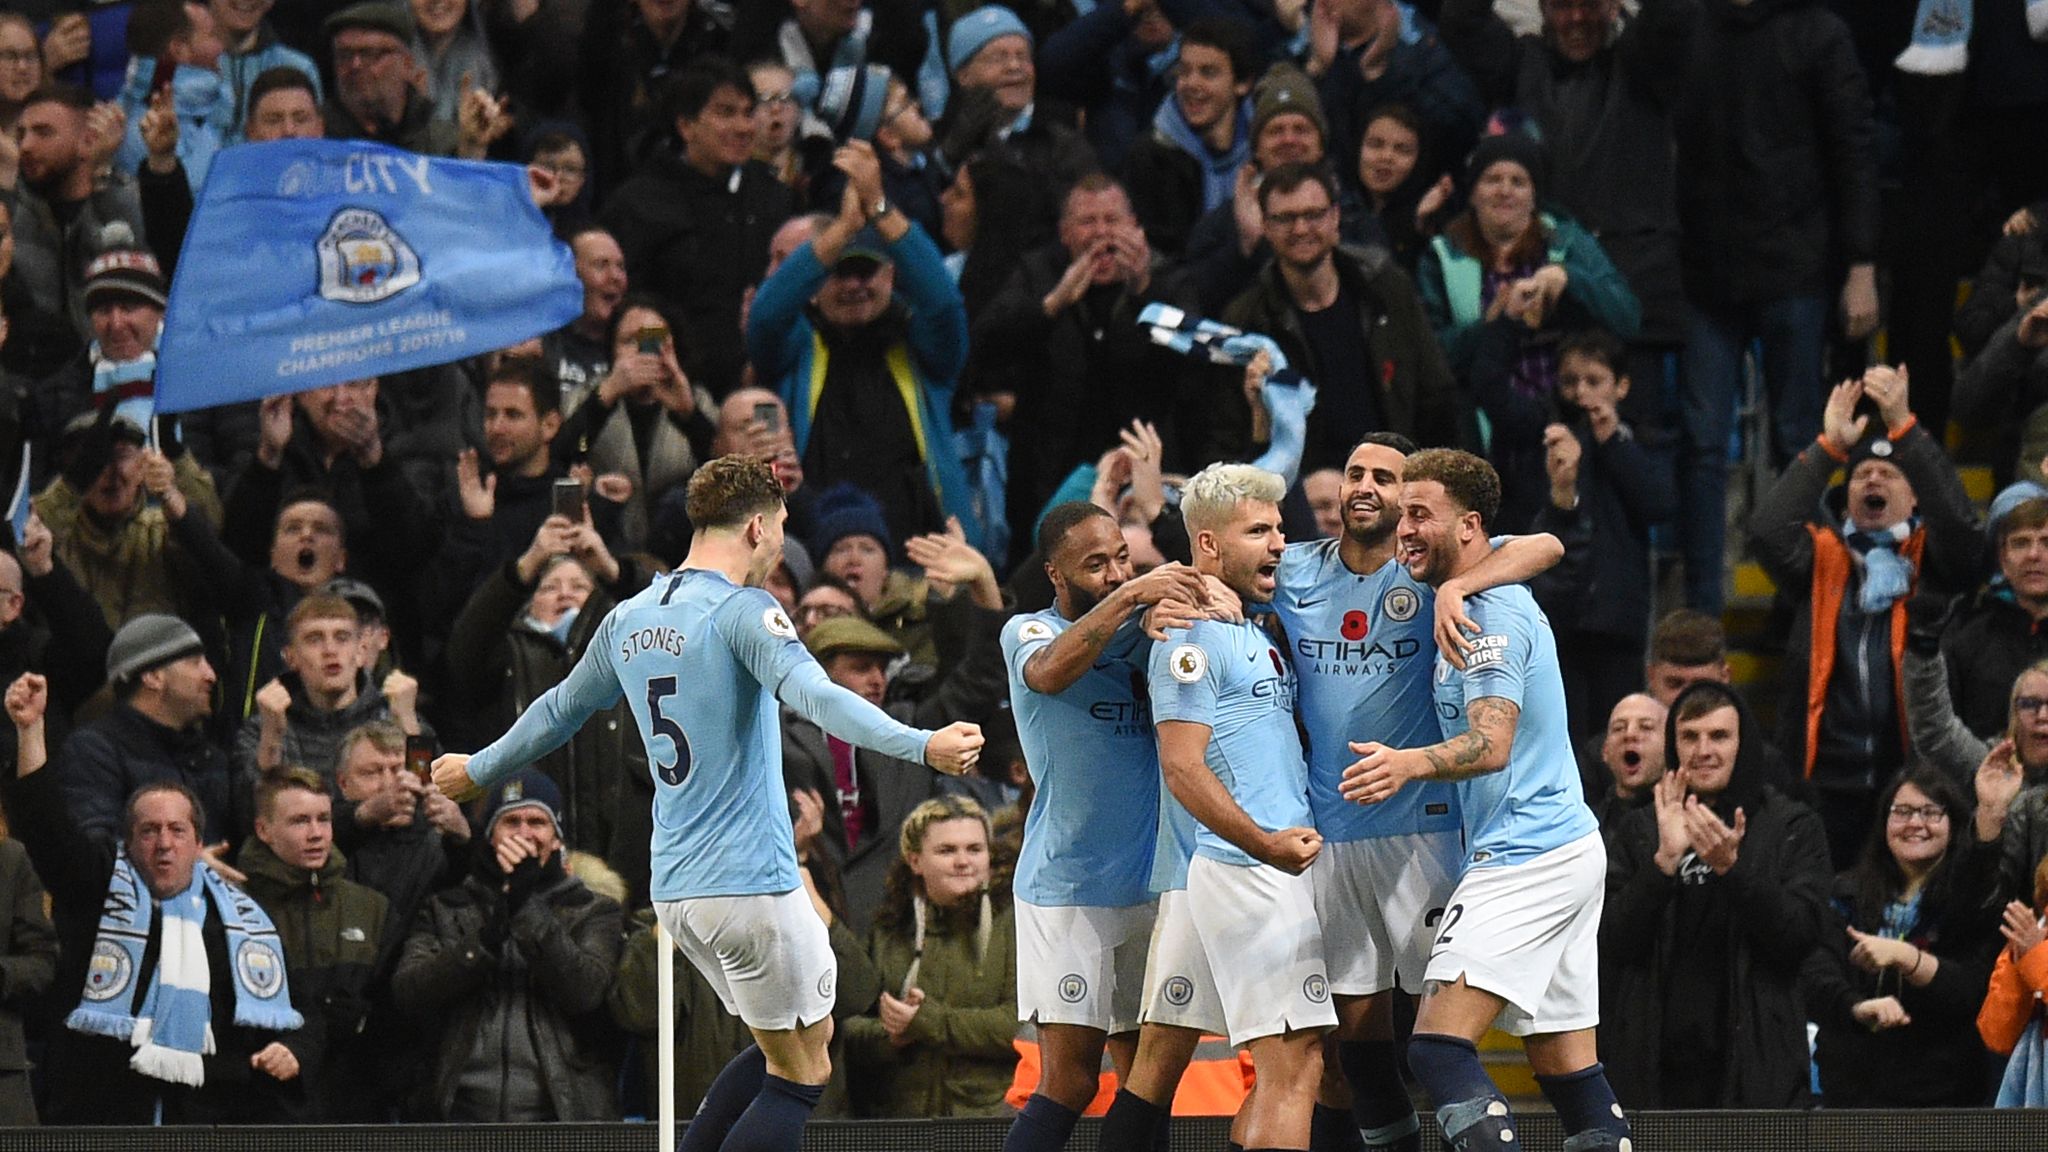
<svg viewBox="0 0 2048 1152"><path fill-rule="evenodd" d="M1700 2L1651 0L1583 64L1567 61L1542 35L1516 35L1487 0L1446 0L1438 23L1487 102L1520 107L1542 127L1550 168L1544 193L1599 240L1628 279L1642 301L1642 338L1681 342L1671 109L1683 98Z"/></svg>

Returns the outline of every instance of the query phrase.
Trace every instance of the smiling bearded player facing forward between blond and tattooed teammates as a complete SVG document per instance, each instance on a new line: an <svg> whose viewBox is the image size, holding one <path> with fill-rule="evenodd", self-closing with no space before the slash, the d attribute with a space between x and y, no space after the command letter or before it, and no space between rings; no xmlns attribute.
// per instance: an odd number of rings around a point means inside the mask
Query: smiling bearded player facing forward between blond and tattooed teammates
<svg viewBox="0 0 2048 1152"><path fill-rule="evenodd" d="M1430 701L1440 590L1395 560L1401 476L1413 451L1397 433L1372 433L1352 449L1337 490L1343 535L1290 543L1274 594L1300 678L1309 808L1323 834L1309 875L1337 1004L1333 1054L1325 1054L1335 1060L1323 1064L1315 1109L1317 1148L1358 1146L1346 1097L1368 1148L1421 1148L1401 1082L1393 996L1421 990L1430 939L1460 871L1454 785L1423 783L1370 808L1339 795L1352 740L1421 748L1440 738ZM1528 580L1563 551L1548 535L1501 541L1497 556L1446 582L1444 607L1456 617L1464 592Z"/></svg>

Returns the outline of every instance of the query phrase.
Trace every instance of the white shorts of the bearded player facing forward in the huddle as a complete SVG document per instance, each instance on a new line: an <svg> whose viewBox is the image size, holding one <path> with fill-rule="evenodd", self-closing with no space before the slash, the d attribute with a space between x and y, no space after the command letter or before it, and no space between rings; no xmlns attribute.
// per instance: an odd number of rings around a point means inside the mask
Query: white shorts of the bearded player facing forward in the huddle
<svg viewBox="0 0 2048 1152"><path fill-rule="evenodd" d="M1395 986L1421 992L1462 857L1464 836L1456 830L1323 842L1309 879L1331 994L1370 996Z"/></svg>

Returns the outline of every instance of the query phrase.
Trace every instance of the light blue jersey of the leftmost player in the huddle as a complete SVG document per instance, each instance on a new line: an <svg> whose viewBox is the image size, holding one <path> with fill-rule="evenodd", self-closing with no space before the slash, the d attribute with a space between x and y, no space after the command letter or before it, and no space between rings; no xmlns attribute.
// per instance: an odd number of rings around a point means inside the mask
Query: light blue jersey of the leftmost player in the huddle
<svg viewBox="0 0 2048 1152"><path fill-rule="evenodd" d="M1042 908L1128 908L1151 900L1159 830L1159 746L1145 689L1151 642L1133 617L1067 691L1032 691L1024 664L1069 627L1057 607L1004 625L1010 709L1038 785L1016 896Z"/></svg>

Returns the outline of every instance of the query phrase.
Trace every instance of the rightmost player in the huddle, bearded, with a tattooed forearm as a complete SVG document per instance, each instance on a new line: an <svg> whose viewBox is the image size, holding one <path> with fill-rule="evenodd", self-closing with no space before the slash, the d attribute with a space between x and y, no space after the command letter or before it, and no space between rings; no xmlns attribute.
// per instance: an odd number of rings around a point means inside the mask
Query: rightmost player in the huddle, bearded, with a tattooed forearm
<svg viewBox="0 0 2048 1152"><path fill-rule="evenodd" d="M1487 461L1450 449L1407 457L1399 556L1409 574L1436 588L1468 574L1493 551L1487 521L1499 504ZM1436 664L1444 740L1352 744L1360 758L1343 775L1343 795L1364 804L1411 781L1458 783L1464 875L1430 951L1409 1068L1452 1148L1520 1148L1479 1062L1477 1041L1499 1019L1526 1037L1567 1146L1626 1150L1628 1121L1593 1045L1608 853L1579 791L1556 642L1528 588L1495 588L1466 609L1479 635L1464 670Z"/></svg>

